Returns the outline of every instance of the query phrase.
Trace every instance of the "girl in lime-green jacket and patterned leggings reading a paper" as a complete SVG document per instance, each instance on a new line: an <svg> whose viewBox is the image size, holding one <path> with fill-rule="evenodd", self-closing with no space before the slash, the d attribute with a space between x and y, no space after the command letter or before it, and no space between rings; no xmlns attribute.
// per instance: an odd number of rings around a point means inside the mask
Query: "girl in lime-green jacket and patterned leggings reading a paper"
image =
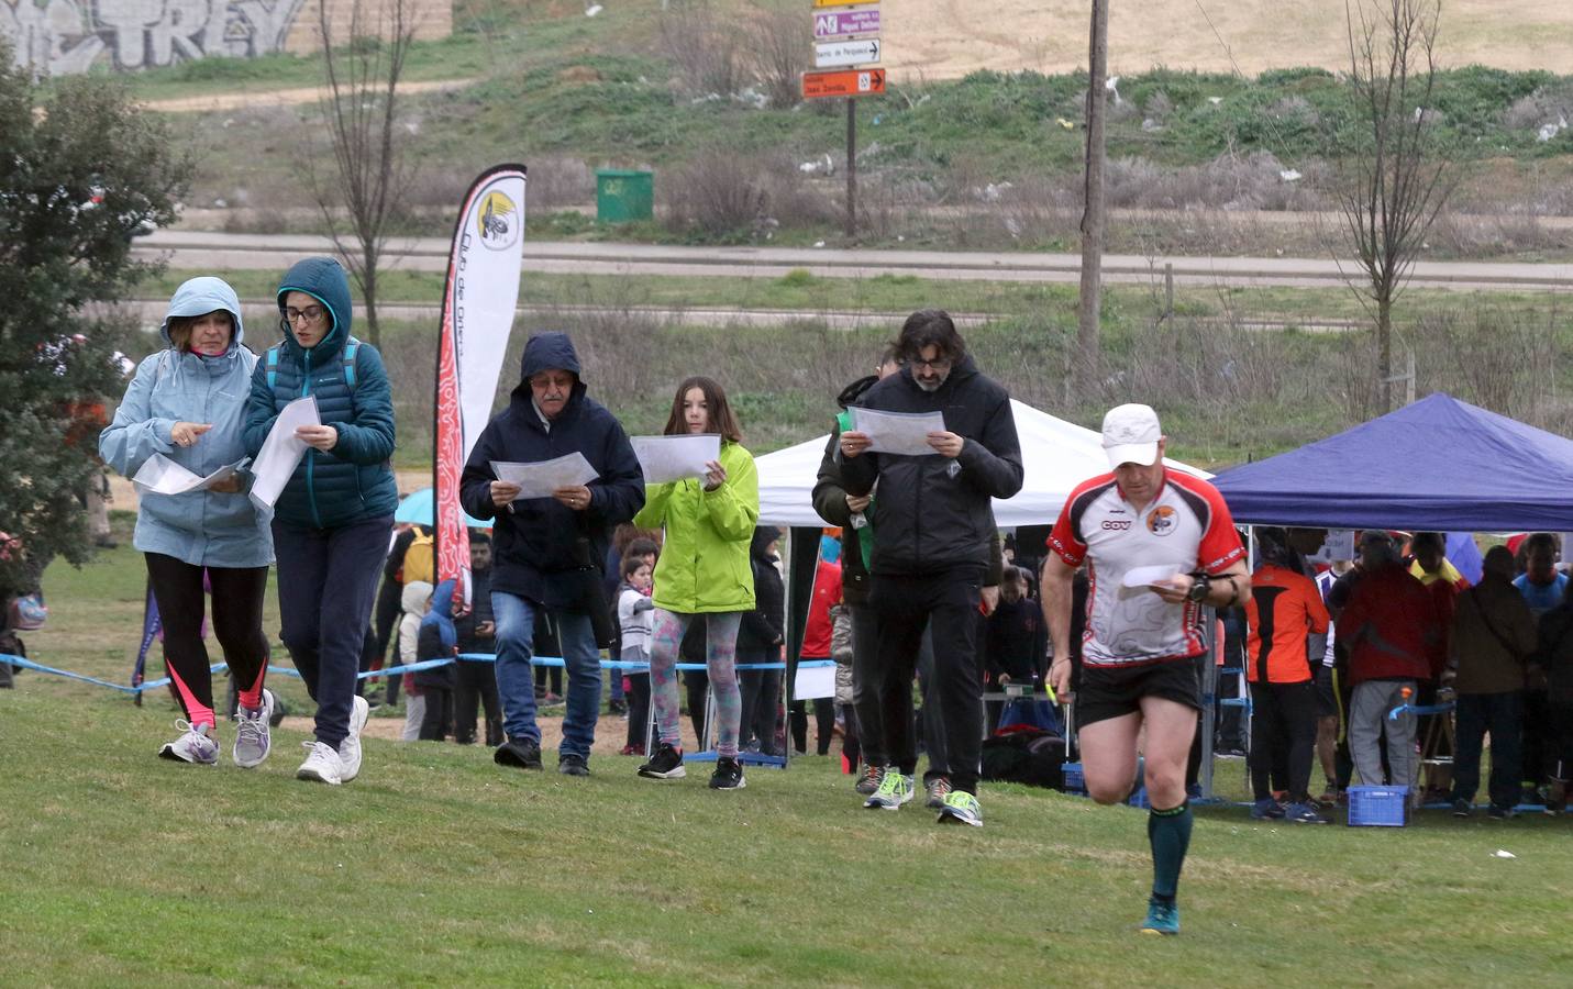
<svg viewBox="0 0 1573 989"><path fill-rule="evenodd" d="M639 767L639 775L653 780L686 775L678 734L676 662L683 634L702 615L705 665L716 695L716 772L709 786L741 789L746 783L738 761L742 697L736 642L742 615L753 610L749 542L760 519L760 476L753 454L742 448L742 429L727 404L727 393L709 377L689 377L672 399L665 434L716 432L720 434L720 458L705 465L705 476L647 484L645 508L634 516L640 528L659 525L665 530L656 561L656 620L650 643L650 697L661 745Z"/></svg>

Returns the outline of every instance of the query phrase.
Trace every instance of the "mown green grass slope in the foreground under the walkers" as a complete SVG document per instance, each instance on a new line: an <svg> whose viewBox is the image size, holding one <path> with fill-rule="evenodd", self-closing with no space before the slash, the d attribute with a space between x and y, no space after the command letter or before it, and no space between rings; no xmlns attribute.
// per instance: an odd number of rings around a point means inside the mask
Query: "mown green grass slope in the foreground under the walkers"
<svg viewBox="0 0 1573 989"><path fill-rule="evenodd" d="M35 657L123 676L140 585L126 549L52 568ZM293 778L296 733L255 772L186 767L153 756L165 697L17 682L6 983L1554 986L1573 964L1567 818L1351 830L1203 808L1184 932L1140 939L1129 808L985 785L985 829L941 829L860 810L820 758L716 794L632 758L568 780L374 739L359 780L324 788Z"/></svg>

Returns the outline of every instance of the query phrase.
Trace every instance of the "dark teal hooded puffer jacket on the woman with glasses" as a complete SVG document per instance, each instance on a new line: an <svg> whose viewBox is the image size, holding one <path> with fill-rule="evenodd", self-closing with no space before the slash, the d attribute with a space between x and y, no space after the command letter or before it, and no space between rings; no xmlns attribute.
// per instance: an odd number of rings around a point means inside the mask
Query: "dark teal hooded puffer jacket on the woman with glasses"
<svg viewBox="0 0 1573 989"><path fill-rule="evenodd" d="M302 347L294 327L283 322L278 365L269 385L267 355L256 362L252 395L245 406L245 448L263 448L278 412L305 395L316 396L322 425L338 429L329 450L307 450L294 476L274 505L274 517L291 528L338 528L398 508L393 481L393 398L382 355L371 344L355 346L355 387L346 381L343 351L354 316L349 278L332 258L297 261L278 285L278 313L289 292L307 292L327 310L332 327L313 347Z"/></svg>

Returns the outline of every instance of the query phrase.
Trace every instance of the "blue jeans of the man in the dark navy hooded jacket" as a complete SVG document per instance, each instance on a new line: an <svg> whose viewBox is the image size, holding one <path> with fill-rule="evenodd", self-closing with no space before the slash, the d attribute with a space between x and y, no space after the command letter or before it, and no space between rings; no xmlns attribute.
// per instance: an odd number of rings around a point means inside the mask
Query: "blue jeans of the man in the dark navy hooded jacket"
<svg viewBox="0 0 1573 989"><path fill-rule="evenodd" d="M502 701L502 728L510 739L541 742L535 723L535 610L538 605L505 591L492 591L492 621L497 623L497 698ZM563 715L563 744L558 758L590 758L595 722L601 715L601 651L595 627L584 612L557 612L557 637L568 668L568 712Z"/></svg>

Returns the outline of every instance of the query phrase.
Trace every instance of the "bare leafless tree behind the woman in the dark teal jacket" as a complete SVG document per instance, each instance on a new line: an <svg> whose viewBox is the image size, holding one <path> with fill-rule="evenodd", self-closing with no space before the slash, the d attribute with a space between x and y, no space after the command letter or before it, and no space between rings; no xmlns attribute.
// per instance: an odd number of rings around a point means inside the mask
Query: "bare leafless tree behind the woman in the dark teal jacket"
<svg viewBox="0 0 1573 989"><path fill-rule="evenodd" d="M398 102L404 58L415 39L415 0L352 0L343 35L330 16L335 6L318 5L327 90L324 135L333 170L308 153L305 173L333 247L360 289L367 338L378 344L378 272L390 222L415 178L415 162L400 142Z"/></svg>

